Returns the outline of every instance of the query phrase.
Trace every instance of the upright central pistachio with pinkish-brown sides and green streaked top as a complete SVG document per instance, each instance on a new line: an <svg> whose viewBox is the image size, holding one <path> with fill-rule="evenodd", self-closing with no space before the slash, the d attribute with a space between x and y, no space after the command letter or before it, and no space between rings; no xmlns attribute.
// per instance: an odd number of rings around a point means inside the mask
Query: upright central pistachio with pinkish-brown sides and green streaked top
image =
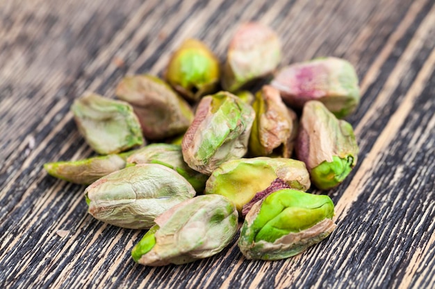
<svg viewBox="0 0 435 289"><path fill-rule="evenodd" d="M229 92L205 96L183 137L184 161L190 168L210 175L224 161L243 157L254 116L250 105Z"/></svg>

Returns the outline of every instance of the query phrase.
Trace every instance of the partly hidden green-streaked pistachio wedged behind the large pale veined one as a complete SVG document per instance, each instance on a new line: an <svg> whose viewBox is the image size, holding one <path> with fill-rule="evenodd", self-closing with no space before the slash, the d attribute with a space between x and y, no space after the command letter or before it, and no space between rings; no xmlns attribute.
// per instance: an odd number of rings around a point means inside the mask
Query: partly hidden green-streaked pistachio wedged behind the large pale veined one
<svg viewBox="0 0 435 289"><path fill-rule="evenodd" d="M202 193L208 175L192 170L183 160L181 146L169 143L152 143L140 148L127 159L131 164L162 164L172 168L190 182L197 193Z"/></svg>

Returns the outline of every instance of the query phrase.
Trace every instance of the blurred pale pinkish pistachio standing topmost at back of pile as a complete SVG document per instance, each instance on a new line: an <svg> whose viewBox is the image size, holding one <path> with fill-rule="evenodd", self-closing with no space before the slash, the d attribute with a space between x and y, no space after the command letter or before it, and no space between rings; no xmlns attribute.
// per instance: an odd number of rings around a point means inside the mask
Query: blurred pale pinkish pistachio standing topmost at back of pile
<svg viewBox="0 0 435 289"><path fill-rule="evenodd" d="M280 61L281 42L277 33L259 23L243 24L229 44L222 87L237 91L252 80L272 73Z"/></svg>

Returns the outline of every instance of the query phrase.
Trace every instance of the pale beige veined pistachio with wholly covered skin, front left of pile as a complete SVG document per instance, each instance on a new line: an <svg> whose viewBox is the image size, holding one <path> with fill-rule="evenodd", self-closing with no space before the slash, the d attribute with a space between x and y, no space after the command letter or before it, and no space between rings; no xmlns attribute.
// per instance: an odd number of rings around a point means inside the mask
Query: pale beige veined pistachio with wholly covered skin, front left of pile
<svg viewBox="0 0 435 289"><path fill-rule="evenodd" d="M138 164L118 170L85 190L89 213L110 225L148 229L154 219L195 196L186 179L161 164Z"/></svg>

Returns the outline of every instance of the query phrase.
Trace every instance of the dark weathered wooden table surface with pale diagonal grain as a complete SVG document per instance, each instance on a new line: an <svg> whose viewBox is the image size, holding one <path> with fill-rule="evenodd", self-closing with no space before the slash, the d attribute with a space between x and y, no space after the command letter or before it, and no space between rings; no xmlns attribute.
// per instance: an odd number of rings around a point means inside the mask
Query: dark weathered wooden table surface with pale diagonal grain
<svg viewBox="0 0 435 289"><path fill-rule="evenodd" d="M95 220L85 186L42 165L92 155L69 112L83 91L161 74L187 37L224 60L249 20L279 33L283 65L356 67L359 163L327 192L338 227L283 261L247 261L233 240L203 261L137 265L145 232ZM435 288L434 48L434 0L0 1L0 288Z"/></svg>

